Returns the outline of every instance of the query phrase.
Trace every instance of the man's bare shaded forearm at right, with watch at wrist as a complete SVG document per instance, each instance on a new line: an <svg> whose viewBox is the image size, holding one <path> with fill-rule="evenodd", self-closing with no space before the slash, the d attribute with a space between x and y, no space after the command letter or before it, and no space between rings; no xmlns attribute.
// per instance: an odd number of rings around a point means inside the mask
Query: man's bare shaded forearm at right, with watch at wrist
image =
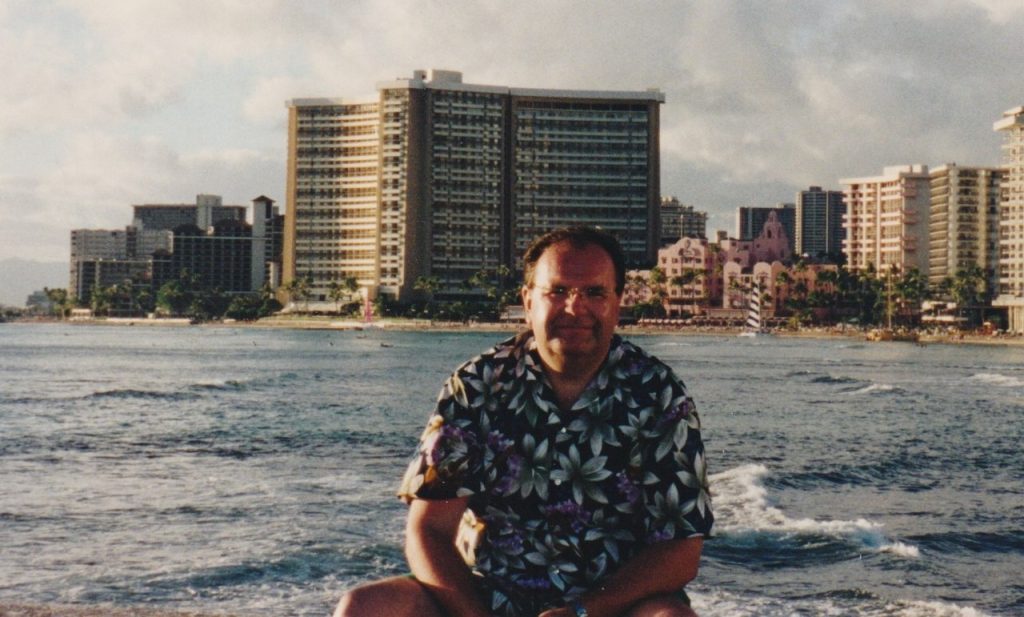
<svg viewBox="0 0 1024 617"><path fill-rule="evenodd" d="M645 546L598 588L580 599L589 617L617 617L637 602L672 593L697 575L703 537L666 540ZM541 617L575 617L568 608L541 614Z"/></svg>

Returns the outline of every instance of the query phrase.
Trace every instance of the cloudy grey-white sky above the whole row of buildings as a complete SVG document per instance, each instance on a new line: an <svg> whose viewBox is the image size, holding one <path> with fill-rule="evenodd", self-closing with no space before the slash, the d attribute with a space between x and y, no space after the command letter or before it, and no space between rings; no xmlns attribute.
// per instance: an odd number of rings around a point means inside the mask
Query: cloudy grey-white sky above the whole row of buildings
<svg viewBox="0 0 1024 617"><path fill-rule="evenodd" d="M662 191L737 206L883 166L996 165L1024 2L0 0L0 260L67 262L131 205L284 206L294 97L470 83L659 88Z"/></svg>

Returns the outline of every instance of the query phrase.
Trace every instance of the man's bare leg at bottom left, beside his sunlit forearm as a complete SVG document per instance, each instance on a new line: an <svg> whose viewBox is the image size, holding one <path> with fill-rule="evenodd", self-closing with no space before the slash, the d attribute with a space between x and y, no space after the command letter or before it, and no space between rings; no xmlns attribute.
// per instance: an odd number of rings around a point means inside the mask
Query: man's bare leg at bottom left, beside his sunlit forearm
<svg viewBox="0 0 1024 617"><path fill-rule="evenodd" d="M334 617L444 617L426 587L411 576L386 578L349 589Z"/></svg>

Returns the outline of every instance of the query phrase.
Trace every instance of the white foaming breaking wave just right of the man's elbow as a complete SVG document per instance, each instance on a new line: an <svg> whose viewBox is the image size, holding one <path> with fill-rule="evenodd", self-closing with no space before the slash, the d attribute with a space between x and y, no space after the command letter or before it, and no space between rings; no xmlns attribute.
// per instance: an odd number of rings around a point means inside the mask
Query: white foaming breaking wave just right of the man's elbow
<svg viewBox="0 0 1024 617"><path fill-rule="evenodd" d="M888 553L902 558L916 558L915 546L889 539L883 526L863 518L845 521L818 521L790 518L770 504L763 479L768 475L763 465L744 465L711 477L715 492L716 528L724 535L767 534L824 536L842 542L855 542L860 548ZM816 548L813 542L803 544Z"/></svg>

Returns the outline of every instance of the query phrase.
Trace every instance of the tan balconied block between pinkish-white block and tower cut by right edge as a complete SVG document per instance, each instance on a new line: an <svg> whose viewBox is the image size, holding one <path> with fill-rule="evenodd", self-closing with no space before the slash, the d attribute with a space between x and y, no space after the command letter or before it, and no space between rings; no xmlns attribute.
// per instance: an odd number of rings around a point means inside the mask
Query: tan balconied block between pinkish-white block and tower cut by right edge
<svg viewBox="0 0 1024 617"><path fill-rule="evenodd" d="M932 169L931 178L928 282L938 285L977 265L985 271L988 290L996 290L1002 173L950 163Z"/></svg>

